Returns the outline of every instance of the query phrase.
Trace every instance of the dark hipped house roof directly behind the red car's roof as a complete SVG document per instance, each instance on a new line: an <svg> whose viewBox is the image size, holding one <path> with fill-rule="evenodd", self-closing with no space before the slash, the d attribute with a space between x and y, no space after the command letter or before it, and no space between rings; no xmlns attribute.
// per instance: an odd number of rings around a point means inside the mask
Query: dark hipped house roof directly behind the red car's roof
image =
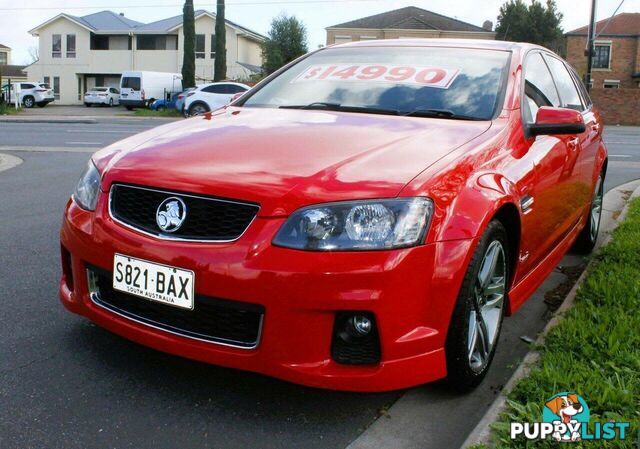
<svg viewBox="0 0 640 449"><path fill-rule="evenodd" d="M463 22L458 19L443 16L426 9L407 6L393 11L364 17L328 27L331 28L367 28L367 29L404 29L404 30L439 30L439 31L490 31Z"/></svg>

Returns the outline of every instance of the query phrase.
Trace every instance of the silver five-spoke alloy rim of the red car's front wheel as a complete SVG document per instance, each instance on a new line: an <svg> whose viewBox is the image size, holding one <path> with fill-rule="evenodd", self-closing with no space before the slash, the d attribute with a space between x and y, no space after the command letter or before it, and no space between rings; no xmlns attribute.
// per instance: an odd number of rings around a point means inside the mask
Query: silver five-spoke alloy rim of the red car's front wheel
<svg viewBox="0 0 640 449"><path fill-rule="evenodd" d="M482 258L471 298L467 350L469 366L474 372L485 368L496 344L504 308L506 274L504 248L500 241L494 240Z"/></svg>

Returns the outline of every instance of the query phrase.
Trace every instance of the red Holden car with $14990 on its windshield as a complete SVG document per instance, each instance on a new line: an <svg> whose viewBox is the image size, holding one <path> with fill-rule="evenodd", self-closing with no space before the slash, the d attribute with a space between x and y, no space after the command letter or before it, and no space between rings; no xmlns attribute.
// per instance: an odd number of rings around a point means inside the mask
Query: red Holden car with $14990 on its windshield
<svg viewBox="0 0 640 449"><path fill-rule="evenodd" d="M96 153L60 297L172 354L314 387L486 375L512 315L593 249L603 124L530 44L317 50L231 105Z"/></svg>

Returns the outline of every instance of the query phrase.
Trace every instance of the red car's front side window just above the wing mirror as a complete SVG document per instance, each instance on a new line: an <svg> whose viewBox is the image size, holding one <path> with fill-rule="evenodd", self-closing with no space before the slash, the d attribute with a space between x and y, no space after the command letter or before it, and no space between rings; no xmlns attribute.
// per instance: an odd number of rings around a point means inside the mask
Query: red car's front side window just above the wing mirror
<svg viewBox="0 0 640 449"><path fill-rule="evenodd" d="M525 61L524 103L525 121L533 123L538 109L542 106L560 106L560 98L553 83L551 72L540 53L529 54Z"/></svg>

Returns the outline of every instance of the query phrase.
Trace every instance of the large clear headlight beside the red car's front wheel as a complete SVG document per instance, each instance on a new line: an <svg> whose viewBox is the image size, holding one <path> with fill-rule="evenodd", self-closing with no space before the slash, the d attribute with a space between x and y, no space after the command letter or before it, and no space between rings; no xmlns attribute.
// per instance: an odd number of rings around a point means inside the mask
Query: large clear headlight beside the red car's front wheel
<svg viewBox="0 0 640 449"><path fill-rule="evenodd" d="M428 198L330 203L294 212L274 245L312 251L392 249L420 243L431 221Z"/></svg>

